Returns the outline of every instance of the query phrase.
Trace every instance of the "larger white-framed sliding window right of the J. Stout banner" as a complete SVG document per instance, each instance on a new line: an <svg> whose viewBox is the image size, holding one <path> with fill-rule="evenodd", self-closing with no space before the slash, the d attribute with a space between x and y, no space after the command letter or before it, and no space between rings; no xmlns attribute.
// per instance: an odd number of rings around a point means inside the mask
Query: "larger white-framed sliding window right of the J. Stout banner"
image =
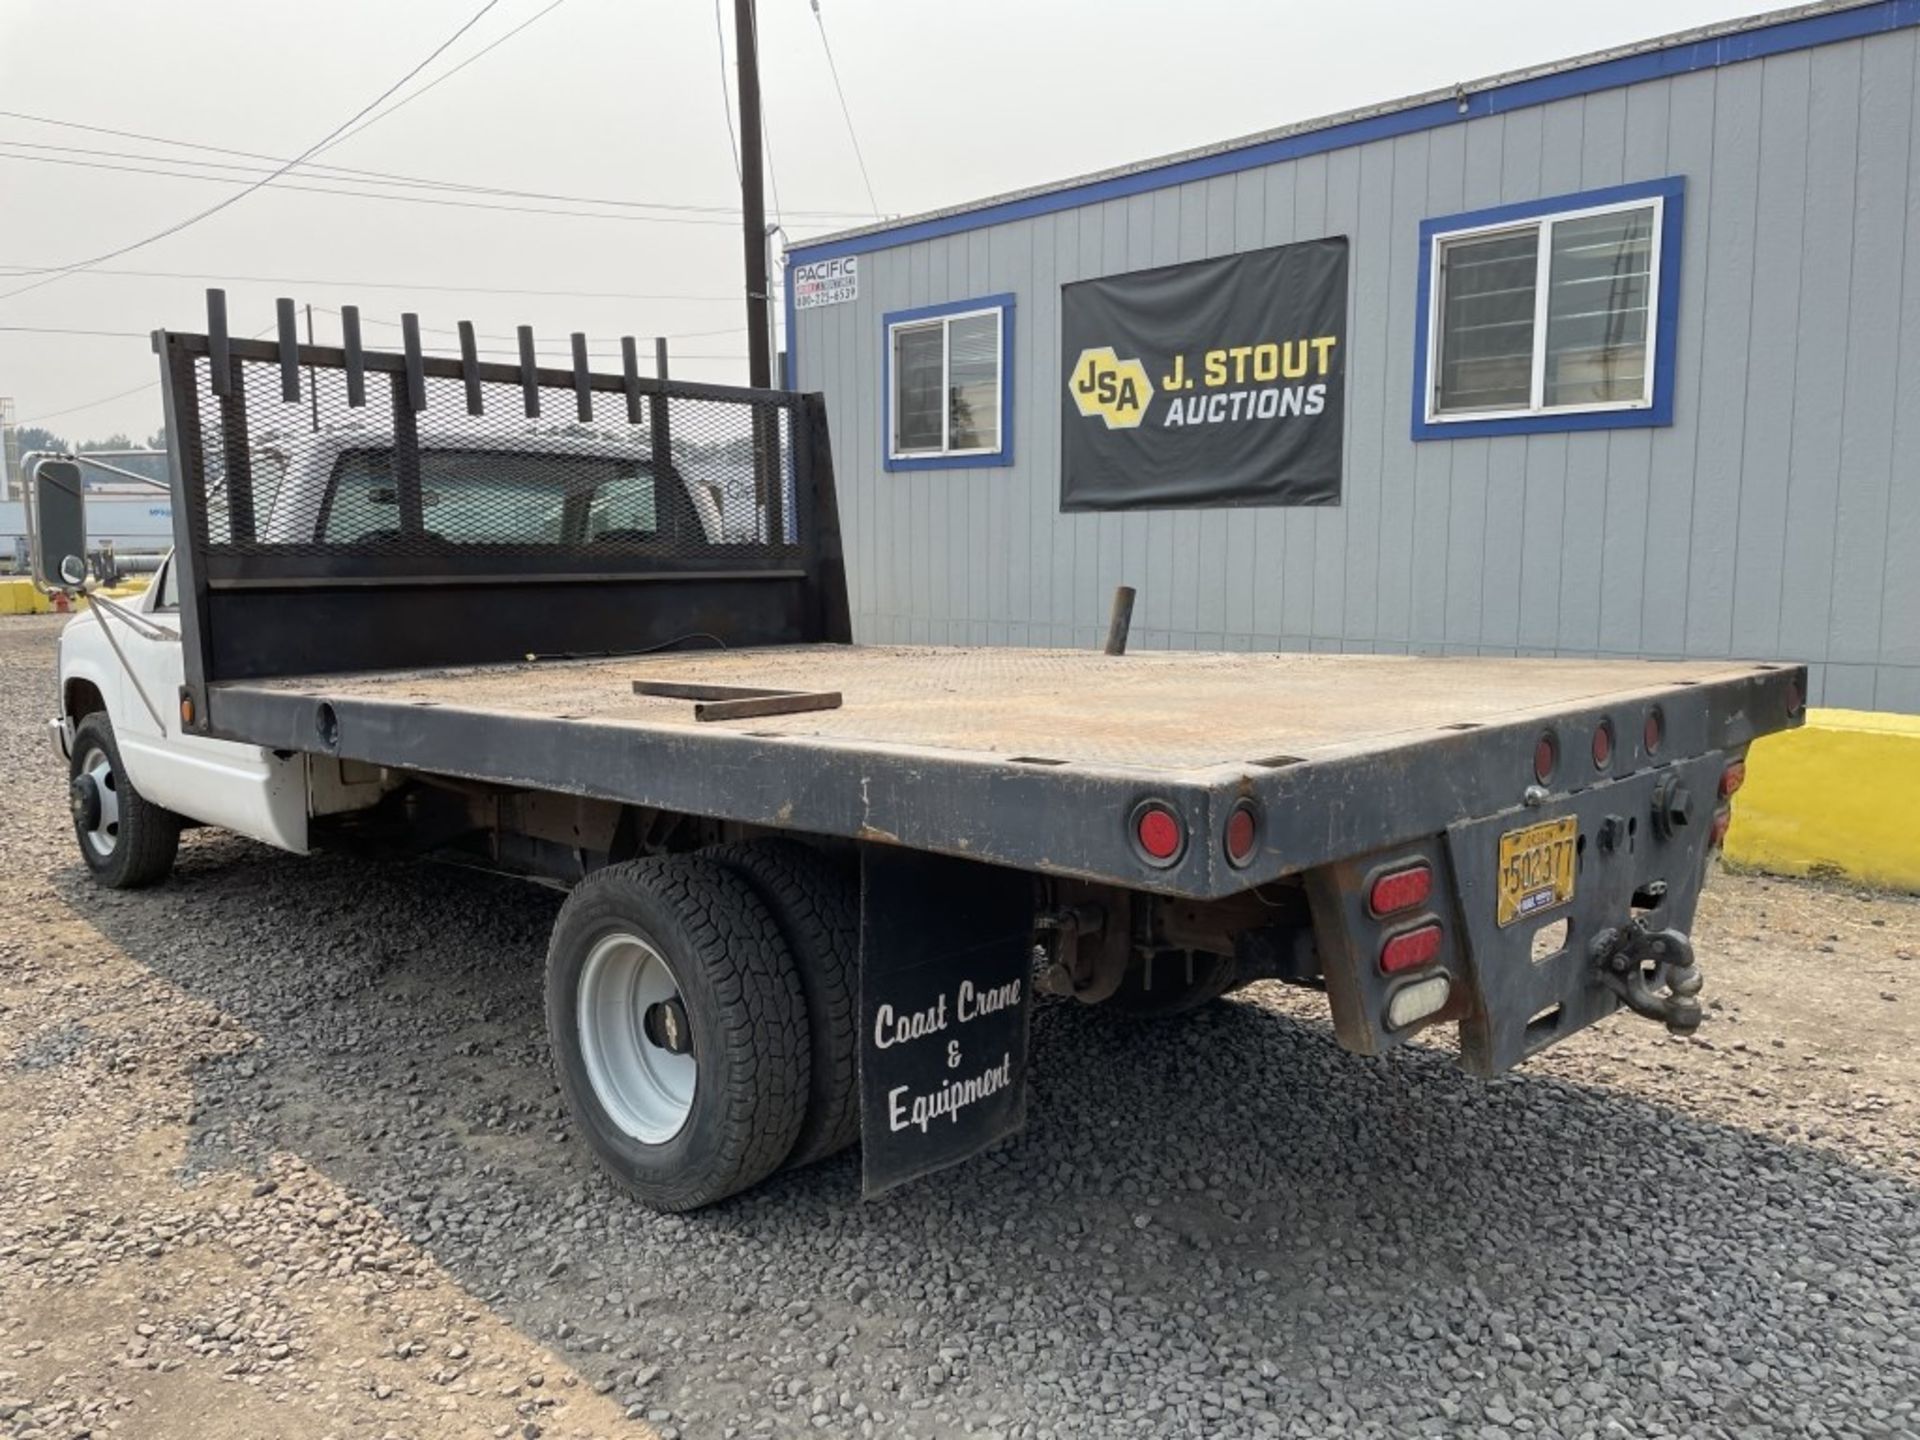
<svg viewBox="0 0 1920 1440"><path fill-rule="evenodd" d="M1434 419L1651 403L1661 202L1434 246Z"/></svg>

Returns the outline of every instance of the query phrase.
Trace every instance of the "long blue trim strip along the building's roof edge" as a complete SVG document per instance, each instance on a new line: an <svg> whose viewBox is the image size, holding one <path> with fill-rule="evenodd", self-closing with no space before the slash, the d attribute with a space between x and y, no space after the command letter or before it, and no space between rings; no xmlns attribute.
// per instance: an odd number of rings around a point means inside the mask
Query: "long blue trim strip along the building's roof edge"
<svg viewBox="0 0 1920 1440"><path fill-rule="evenodd" d="M1035 215L1050 215L1062 209L1079 209L1102 200L1119 200L1148 190L1167 190L1190 180L1206 180L1213 175L1235 175L1261 165L1275 165L1286 159L1321 156L1331 150L1367 144L1371 140L1390 140L1400 134L1436 131L1448 125L1463 125L1486 115L1505 115L1515 109L1530 109L1555 100L1619 90L1626 84L1690 75L1695 71L1740 65L1766 56L1784 56L1795 50L1812 50L1824 44L1859 40L1868 35L1899 31L1920 25L1920 0L1880 0L1880 4L1855 6L1849 10L1828 10L1799 19L1784 19L1774 25L1755 25L1747 31L1730 31L1711 38L1678 36L1653 50L1596 60L1574 69L1557 69L1548 75L1507 81L1484 90L1469 90L1461 96L1430 100L1402 109L1388 109L1379 115L1327 125L1317 131L1283 134L1260 144L1223 150L1208 156L1152 165L1127 175L1110 175L1098 180L1068 184L1021 200L1004 200L996 205L979 205L956 215L941 215L924 221L906 221L893 228L852 234L841 240L826 236L787 252L787 263L799 265L810 259L831 259L833 255L868 255L876 250L893 250L918 240L935 240L943 234L981 230L989 225L1023 221ZM791 294L791 288L789 288ZM789 309L787 319L793 319Z"/></svg>

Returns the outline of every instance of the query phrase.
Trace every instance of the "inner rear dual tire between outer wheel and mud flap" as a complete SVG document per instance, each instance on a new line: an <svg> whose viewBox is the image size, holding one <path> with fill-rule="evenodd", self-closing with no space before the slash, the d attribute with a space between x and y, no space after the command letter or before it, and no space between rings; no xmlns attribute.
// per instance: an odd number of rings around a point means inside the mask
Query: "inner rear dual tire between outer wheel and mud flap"
<svg viewBox="0 0 1920 1440"><path fill-rule="evenodd" d="M806 991L812 1083L806 1123L789 1167L860 1139L860 893L845 866L791 839L756 839L705 851L743 876L780 925Z"/></svg>

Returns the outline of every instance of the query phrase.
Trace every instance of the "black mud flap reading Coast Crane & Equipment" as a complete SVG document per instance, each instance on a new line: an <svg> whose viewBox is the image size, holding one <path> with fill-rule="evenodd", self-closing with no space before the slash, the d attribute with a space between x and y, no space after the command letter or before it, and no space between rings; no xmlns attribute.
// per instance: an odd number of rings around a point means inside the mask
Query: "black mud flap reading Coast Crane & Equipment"
<svg viewBox="0 0 1920 1440"><path fill-rule="evenodd" d="M1033 881L860 847L860 1148L866 1196L1027 1123Z"/></svg>

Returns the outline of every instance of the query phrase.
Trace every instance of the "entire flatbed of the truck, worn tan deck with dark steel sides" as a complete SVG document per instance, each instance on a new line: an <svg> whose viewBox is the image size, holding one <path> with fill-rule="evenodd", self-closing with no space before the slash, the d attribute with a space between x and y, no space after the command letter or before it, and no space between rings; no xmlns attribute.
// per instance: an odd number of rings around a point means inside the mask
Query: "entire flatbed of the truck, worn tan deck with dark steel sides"
<svg viewBox="0 0 1920 1440"><path fill-rule="evenodd" d="M787 645L221 682L236 739L968 854L1175 893L1227 893L1323 858L1517 806L1534 743L1609 776L1659 705L1670 755L1743 745L1791 666L1396 655L1198 655ZM703 722L636 680L839 691L839 708ZM1764 693L1763 693L1764 691ZM328 720L317 722L319 707ZM1780 720L1772 726L1776 728ZM326 733L334 739L328 745ZM1236 797L1273 814L1261 862L1194 845L1131 854L1162 797L1206 833Z"/></svg>

